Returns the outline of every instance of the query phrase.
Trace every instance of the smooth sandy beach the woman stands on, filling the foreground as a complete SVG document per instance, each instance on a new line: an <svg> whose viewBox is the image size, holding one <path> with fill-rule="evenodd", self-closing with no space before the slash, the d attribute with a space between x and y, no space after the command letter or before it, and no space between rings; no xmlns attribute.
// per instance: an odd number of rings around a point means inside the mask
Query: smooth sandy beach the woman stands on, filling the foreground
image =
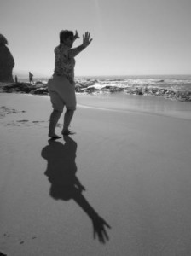
<svg viewBox="0 0 191 256"><path fill-rule="evenodd" d="M49 141L49 96L0 94L0 252L191 254L190 105L108 97L78 96Z"/></svg>

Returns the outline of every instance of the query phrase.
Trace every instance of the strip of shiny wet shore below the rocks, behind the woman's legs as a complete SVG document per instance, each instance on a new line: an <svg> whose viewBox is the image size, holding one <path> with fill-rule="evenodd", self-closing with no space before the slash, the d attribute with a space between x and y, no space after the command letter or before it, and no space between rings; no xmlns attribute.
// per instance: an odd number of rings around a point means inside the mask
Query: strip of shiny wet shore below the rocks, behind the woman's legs
<svg viewBox="0 0 191 256"><path fill-rule="evenodd" d="M0 93L0 96L1 95L5 95L8 97L11 97L11 95L34 97L43 96L49 101L49 95ZM49 107L51 109L50 102ZM95 108L122 113L143 113L191 120L191 104L188 104L188 102L177 102L174 100L169 101L162 96L134 96L126 95L123 92L101 95L82 95L77 93L77 111L78 108Z"/></svg>

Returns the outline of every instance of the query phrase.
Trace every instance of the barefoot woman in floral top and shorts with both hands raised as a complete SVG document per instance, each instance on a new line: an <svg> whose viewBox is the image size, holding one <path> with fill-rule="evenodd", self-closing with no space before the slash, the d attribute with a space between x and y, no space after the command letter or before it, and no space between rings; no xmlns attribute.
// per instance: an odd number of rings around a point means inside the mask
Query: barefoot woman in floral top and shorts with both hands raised
<svg viewBox="0 0 191 256"><path fill-rule="evenodd" d="M53 107L53 112L49 118L49 137L53 139L60 138L55 134L55 126L61 117L64 106L66 106L67 110L64 115L61 133L62 135L72 134L68 127L76 110L74 57L92 41L90 39L90 32L85 32L83 44L77 48L72 48L73 42L77 38L79 38L77 31L74 35L72 31L62 30L60 32L60 44L55 48L55 72L48 83L49 96Z"/></svg>

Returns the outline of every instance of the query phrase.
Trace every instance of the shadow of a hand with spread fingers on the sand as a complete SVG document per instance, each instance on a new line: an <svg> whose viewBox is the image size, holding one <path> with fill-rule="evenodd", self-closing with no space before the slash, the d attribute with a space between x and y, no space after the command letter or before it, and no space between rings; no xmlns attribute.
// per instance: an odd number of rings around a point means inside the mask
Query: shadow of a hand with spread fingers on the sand
<svg viewBox="0 0 191 256"><path fill-rule="evenodd" d="M110 225L107 224L107 222L101 218L100 216L97 216L96 218L92 218L93 222L93 228L94 228L94 239L96 239L96 236L98 240L101 243L106 243L106 241L109 240L109 236L107 235L107 231L105 227L108 229L111 229Z"/></svg>

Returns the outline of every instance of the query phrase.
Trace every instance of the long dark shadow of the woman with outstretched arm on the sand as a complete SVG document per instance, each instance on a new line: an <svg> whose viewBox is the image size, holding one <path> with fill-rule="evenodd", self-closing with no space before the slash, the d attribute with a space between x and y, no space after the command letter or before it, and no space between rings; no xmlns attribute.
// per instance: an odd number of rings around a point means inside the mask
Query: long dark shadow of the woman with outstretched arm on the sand
<svg viewBox="0 0 191 256"><path fill-rule="evenodd" d="M109 240L106 227L111 228L107 222L99 216L96 210L90 206L82 192L84 186L76 176L77 166L75 163L77 143L71 137L64 137L65 143L49 140L49 145L43 148L42 157L47 160L47 170L44 174L49 177L51 187L49 195L55 200L74 200L79 207L90 217L94 238L101 243Z"/></svg>

